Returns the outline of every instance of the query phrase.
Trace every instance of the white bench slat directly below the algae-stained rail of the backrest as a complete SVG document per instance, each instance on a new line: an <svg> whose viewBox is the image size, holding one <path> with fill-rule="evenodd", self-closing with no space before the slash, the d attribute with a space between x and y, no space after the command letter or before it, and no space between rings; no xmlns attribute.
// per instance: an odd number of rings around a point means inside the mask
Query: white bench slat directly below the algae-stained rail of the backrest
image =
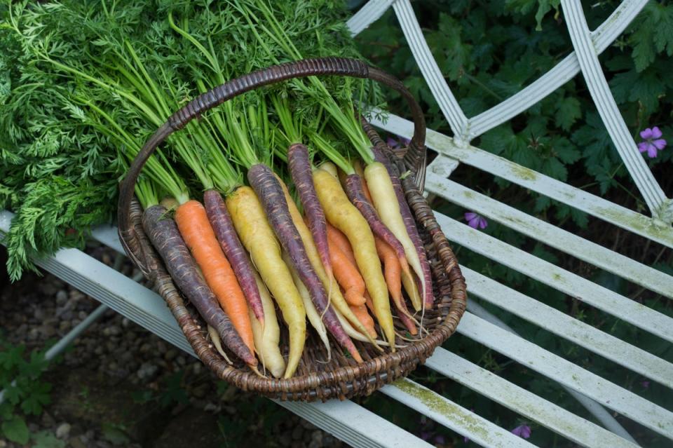
<svg viewBox="0 0 673 448"><path fill-rule="evenodd" d="M435 175L433 165L446 156L435 158L430 163L426 175L426 190L451 203L460 205L466 210L477 212L484 217L493 219L526 236L535 238L545 245L555 247L573 257L597 266L605 271L616 274L630 282L658 292L664 297L673 299L673 277L650 266L641 264L634 259L618 254L606 247L580 238L574 233L521 212L510 205L501 203L473 189Z"/></svg>

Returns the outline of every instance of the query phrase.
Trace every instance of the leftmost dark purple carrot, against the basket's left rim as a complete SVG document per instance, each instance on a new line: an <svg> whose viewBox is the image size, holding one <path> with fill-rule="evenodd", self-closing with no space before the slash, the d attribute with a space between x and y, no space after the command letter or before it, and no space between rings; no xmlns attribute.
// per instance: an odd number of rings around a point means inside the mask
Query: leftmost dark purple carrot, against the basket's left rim
<svg viewBox="0 0 673 448"><path fill-rule="evenodd" d="M201 317L215 328L231 351L251 367L257 366L257 359L245 346L243 339L231 324L229 317L220 308L215 294L198 273L198 266L189 253L175 221L166 216L161 205L152 205L142 215L145 233L161 255L168 273L182 293L196 306Z"/></svg>

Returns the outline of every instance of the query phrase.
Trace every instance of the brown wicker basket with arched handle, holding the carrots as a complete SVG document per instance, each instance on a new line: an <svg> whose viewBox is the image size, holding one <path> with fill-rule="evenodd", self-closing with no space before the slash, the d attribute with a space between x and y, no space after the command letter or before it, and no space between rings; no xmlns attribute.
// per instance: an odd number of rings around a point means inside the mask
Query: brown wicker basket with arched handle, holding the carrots
<svg viewBox="0 0 673 448"><path fill-rule="evenodd" d="M191 306L185 304L182 295L165 270L161 258L152 248L142 228L142 209L133 196L133 190L140 170L156 147L168 135L183 128L193 118L254 88L312 75L340 75L373 79L394 88L407 100L414 117L414 137L408 150L405 151L404 159L393 154L393 151L371 126L365 122L363 125L372 144L388 155L397 170L412 172L411 176L402 180L402 188L405 190L409 207L416 218L416 224L432 267L435 306L432 310L426 311L423 319L429 331L428 336L411 343L397 341L399 344L405 344L405 347L398 348L395 353L381 353L376 351L371 344L354 341L365 362L358 364L340 351L334 350L332 360L325 363L322 344L315 334L308 331L304 354L294 376L291 379L262 378L247 369L243 362L234 361L233 365L229 365L210 344L205 325L202 324L203 320L198 317ZM409 90L393 76L358 60L327 57L289 62L252 72L203 93L186 104L170 116L168 121L144 145L121 183L118 204L121 243L130 259L165 299L196 355L219 378L235 384L244 391L254 391L280 400L310 401L329 398L343 400L354 395L368 395L384 384L409 374L419 363L425 362L435 347L442 344L456 330L458 321L465 310L465 279L447 238L420 193L425 177L425 137L426 127L421 108ZM404 334L405 328L401 323L396 322L395 325L396 330ZM381 334L380 331L379 334ZM281 351L287 353L287 334L281 336ZM231 355L232 360L235 358Z"/></svg>

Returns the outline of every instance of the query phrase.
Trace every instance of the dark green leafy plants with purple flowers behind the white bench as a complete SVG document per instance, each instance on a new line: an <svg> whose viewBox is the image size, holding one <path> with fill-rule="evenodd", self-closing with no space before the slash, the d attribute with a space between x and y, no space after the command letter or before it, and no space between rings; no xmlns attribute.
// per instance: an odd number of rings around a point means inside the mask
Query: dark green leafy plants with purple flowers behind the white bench
<svg viewBox="0 0 673 448"><path fill-rule="evenodd" d="M468 117L480 114L519 92L573 50L559 4L557 0L412 2L423 29L423 36L428 41L440 71ZM595 29L606 20L618 5L618 1L611 0L583 5L590 29ZM673 139L673 127L670 125L673 123L673 79L669 76L673 68L670 57L673 52L673 26L670 25L672 15L673 4L670 1L649 2L623 36L600 56L606 79L636 143L658 138L670 142ZM365 56L382 69L404 80L405 85L421 102L428 127L451 135L447 121L430 94L392 11L383 15L356 39ZM408 111L400 98L390 96L388 106L393 113L408 118ZM662 137L657 137L658 133L653 130L655 126L659 128ZM651 129L650 132L644 132L648 128ZM590 93L580 77L564 84L519 116L478 137L472 144L526 168L647 214L644 201L613 147ZM637 148L634 147L634 151ZM651 157L647 152L642 156L662 189L671 191L673 179L668 172L673 151L670 147L665 147L653 151L653 154L656 156ZM594 225L585 213L547 196L527 191L504 179L469 167L461 166L451 174L451 179L529 215L578 233L588 240L613 245L617 238L620 245L616 250L650 264L655 269L671 271L673 255L670 250L643 250L642 240L627 236L625 232L606 235L605 227ZM657 294L648 293L618 276L578 262L568 254L526 238L508 226L492 220L484 221L482 226L482 218L478 215L465 217L465 212L470 210L447 201L437 200L433 203L433 208L464 220L465 224L472 219L473 226L479 226L479 230L489 236L574 271L619 294L637 299L656 311L667 315L671 315L673 311L670 301L661 299ZM623 325L616 318L585 306L575 297L568 297L563 292L531 280L508 266L468 250L467 247L454 245L454 250L461 264L470 269L543 301L599 330L632 341L664 359L673 355L670 344L665 346L657 337L630 325ZM479 300L477 297L470 299ZM638 391L655 402L665 402L673 398L665 388L644 381L627 369L615 368L612 362L560 339L540 325L528 323L486 301L480 301L480 304L523 337L552 353L562 355L578 365L590 365L593 372L620 386ZM451 337L445 346L564 409L588 417L585 409L563 388L525 366L517 365L460 335ZM530 441L534 444L569 446L551 431L538 426L531 428L525 422L522 424L516 414L468 388L457 386L441 377L424 374L423 369L419 369L415 375L419 381L432 384L434 391L456 400L463 407L474 409L478 414L497 421L503 427L517 430L517 435L531 437ZM369 399L369 403L372 402ZM381 407L395 415L398 412L405 415L407 412L404 407L395 403L372 403L372 409L376 412L380 413ZM433 426L428 429L426 423L419 419L414 421L407 416L405 420L414 422L408 423L407 427L416 434L429 432L452 436L456 446L469 443L444 428ZM405 426L405 423L400 424ZM626 420L623 424L628 425ZM665 446L661 437L632 429L631 426L629 428L641 444Z"/></svg>

